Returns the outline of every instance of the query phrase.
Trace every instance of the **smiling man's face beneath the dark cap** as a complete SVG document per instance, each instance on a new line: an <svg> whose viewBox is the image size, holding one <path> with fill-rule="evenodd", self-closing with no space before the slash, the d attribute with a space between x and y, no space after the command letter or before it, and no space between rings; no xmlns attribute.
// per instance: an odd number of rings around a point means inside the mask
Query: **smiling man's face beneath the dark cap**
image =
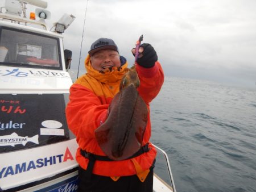
<svg viewBox="0 0 256 192"><path fill-rule="evenodd" d="M90 63L93 69L105 70L107 68L113 68L114 66L121 66L120 57L117 51L112 49L103 49L93 54L90 57Z"/></svg>

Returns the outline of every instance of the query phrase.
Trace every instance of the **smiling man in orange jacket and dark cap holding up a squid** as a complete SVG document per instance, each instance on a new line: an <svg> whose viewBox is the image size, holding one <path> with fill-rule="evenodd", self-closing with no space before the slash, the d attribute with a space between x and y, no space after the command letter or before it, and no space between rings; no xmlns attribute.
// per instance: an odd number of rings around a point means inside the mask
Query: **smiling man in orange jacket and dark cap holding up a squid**
<svg viewBox="0 0 256 192"><path fill-rule="evenodd" d="M133 54L135 50L132 49ZM112 39L96 40L85 59L87 73L70 88L67 122L79 148L79 191L152 191L156 149L151 136L149 103L159 93L164 74L150 44L139 48L136 70L141 82L138 93L147 105L148 116L142 148L131 158L113 161L97 143L95 130L108 118L108 108L126 73L127 62Z"/></svg>

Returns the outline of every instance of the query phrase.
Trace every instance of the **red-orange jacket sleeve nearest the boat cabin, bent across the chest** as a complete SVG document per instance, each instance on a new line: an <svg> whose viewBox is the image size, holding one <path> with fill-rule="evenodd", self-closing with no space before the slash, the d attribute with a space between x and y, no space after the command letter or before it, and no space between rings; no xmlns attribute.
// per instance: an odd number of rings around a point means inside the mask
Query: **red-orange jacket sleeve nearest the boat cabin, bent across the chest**
<svg viewBox="0 0 256 192"><path fill-rule="evenodd" d="M66 107L67 123L81 148L86 145L84 138L86 141L95 140L94 130L105 122L108 107L107 104L102 105L100 98L85 86L71 86Z"/></svg>

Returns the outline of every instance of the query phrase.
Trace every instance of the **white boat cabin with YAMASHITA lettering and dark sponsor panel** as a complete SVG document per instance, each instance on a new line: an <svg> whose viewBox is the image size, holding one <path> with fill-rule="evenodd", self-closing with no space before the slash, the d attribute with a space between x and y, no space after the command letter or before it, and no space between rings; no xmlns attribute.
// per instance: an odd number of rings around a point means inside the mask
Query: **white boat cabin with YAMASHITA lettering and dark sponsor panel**
<svg viewBox="0 0 256 192"><path fill-rule="evenodd" d="M40 7L32 19L28 5ZM77 189L77 143L65 119L72 52L63 47L63 32L75 17L64 14L48 30L50 12L42 8L47 2L6 0L0 11L3 191Z"/></svg>

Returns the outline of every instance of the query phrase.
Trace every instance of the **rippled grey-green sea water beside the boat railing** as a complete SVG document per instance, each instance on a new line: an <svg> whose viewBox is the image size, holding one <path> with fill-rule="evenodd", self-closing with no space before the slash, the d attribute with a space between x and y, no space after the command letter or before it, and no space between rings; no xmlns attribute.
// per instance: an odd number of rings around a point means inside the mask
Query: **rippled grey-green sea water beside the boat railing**
<svg viewBox="0 0 256 192"><path fill-rule="evenodd" d="M256 191L256 87L166 77L151 124L178 192Z"/></svg>

